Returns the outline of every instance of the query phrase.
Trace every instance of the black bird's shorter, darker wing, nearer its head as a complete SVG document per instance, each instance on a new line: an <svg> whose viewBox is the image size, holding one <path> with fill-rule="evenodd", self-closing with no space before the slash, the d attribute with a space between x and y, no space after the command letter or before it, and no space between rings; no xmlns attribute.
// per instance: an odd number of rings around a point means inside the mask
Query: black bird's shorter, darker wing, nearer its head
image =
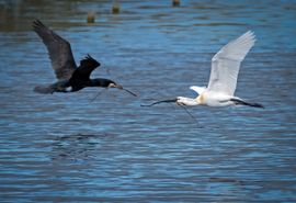
<svg viewBox="0 0 296 203"><path fill-rule="evenodd" d="M80 66L75 70L70 80L89 80L91 72L100 66L100 63L93 59L90 55L80 60Z"/></svg>

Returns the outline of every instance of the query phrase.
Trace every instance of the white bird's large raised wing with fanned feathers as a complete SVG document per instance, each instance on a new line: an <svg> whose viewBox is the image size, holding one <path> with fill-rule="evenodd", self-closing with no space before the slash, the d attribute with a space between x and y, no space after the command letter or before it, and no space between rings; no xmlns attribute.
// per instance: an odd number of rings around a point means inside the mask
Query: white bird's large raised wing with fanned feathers
<svg viewBox="0 0 296 203"><path fill-rule="evenodd" d="M248 31L235 41L225 45L213 58L208 90L234 95L240 63L254 45L255 36Z"/></svg>

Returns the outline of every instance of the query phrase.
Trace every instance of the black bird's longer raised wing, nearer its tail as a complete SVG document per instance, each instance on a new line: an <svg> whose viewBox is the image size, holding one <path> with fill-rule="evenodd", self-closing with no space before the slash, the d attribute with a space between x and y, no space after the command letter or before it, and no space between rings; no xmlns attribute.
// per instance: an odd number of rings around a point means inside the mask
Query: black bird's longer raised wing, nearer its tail
<svg viewBox="0 0 296 203"><path fill-rule="evenodd" d="M57 79L70 79L77 68L70 43L58 36L38 20L33 22L33 29L47 47Z"/></svg>

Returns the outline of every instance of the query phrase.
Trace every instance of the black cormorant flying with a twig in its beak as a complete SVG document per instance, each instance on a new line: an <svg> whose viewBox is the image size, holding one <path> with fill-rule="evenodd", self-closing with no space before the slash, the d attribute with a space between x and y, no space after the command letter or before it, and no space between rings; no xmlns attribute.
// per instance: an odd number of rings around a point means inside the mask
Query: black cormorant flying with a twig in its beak
<svg viewBox="0 0 296 203"><path fill-rule="evenodd" d="M71 45L68 41L57 35L38 20L33 22L33 29L47 47L49 58L52 60L52 67L55 70L56 78L58 79L57 82L49 86L35 87L34 91L38 93L75 92L87 87L101 87L117 88L136 97L135 93L124 89L121 84L117 84L110 79L90 79L91 72L100 66L99 61L88 55L86 58L80 60L80 65L77 67Z"/></svg>

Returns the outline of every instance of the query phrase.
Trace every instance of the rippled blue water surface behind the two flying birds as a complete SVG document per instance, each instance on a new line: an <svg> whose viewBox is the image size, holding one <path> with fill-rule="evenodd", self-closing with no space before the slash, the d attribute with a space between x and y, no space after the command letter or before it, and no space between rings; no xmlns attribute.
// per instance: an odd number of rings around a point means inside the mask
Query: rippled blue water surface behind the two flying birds
<svg viewBox="0 0 296 203"><path fill-rule="evenodd" d="M295 1L0 1L1 202L296 202ZM86 23L95 11L95 23ZM135 91L43 95L42 20ZM265 105L140 104L195 97L210 58L248 30L236 94ZM100 93L93 102L92 99Z"/></svg>

